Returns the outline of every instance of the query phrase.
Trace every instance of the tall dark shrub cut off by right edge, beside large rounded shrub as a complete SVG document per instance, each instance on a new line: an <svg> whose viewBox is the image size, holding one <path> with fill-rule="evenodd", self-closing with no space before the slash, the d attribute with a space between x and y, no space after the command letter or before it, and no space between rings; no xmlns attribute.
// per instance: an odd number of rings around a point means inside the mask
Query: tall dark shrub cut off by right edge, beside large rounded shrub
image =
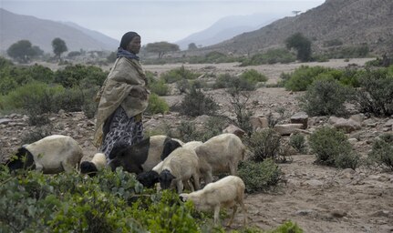
<svg viewBox="0 0 393 233"><path fill-rule="evenodd" d="M387 68L367 70L359 77L359 86L360 112L387 117L393 114L393 74Z"/></svg>

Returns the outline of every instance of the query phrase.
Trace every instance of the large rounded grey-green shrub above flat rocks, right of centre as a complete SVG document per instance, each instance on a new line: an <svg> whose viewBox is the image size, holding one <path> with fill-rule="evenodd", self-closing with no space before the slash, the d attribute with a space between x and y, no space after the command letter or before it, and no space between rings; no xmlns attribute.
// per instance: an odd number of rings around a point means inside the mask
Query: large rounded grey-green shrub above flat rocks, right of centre
<svg viewBox="0 0 393 233"><path fill-rule="evenodd" d="M299 98L299 105L310 116L346 115L350 91L336 80L316 80Z"/></svg>

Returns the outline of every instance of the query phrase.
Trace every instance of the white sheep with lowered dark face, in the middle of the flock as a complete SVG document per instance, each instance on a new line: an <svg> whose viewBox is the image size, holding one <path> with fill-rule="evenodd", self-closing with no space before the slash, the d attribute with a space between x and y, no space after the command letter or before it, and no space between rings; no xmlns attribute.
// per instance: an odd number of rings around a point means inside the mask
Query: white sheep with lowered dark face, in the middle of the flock
<svg viewBox="0 0 393 233"><path fill-rule="evenodd" d="M185 147L175 149L162 161L160 187L162 189L176 186L178 193L183 190L183 182L193 178L195 189L200 188L199 159L195 151Z"/></svg>

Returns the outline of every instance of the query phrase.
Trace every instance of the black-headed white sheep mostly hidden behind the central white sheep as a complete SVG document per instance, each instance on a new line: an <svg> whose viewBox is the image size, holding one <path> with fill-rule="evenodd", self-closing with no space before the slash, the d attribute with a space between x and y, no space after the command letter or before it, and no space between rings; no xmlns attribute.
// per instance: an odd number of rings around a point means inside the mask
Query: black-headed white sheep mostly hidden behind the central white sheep
<svg viewBox="0 0 393 233"><path fill-rule="evenodd" d="M202 145L201 141L191 141L186 144L183 144L183 148L188 148L195 151L195 147ZM163 161L161 161L158 165L153 167L150 171L140 173L137 176L137 179L144 187L153 187L154 184L160 182L160 172L162 171ZM186 183L188 186L188 182Z"/></svg>

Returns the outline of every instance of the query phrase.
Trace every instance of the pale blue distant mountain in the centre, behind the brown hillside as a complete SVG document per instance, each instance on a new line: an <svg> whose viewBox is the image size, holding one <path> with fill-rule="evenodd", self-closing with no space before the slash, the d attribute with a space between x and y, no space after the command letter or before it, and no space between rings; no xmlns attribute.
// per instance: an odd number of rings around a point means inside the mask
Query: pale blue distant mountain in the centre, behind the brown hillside
<svg viewBox="0 0 393 233"><path fill-rule="evenodd" d="M212 46L243 32L259 29L277 18L280 18L280 16L269 14L232 15L223 17L207 29L189 35L175 42L175 44L179 45L181 49L187 49L188 45L191 43L195 43L197 46Z"/></svg>

